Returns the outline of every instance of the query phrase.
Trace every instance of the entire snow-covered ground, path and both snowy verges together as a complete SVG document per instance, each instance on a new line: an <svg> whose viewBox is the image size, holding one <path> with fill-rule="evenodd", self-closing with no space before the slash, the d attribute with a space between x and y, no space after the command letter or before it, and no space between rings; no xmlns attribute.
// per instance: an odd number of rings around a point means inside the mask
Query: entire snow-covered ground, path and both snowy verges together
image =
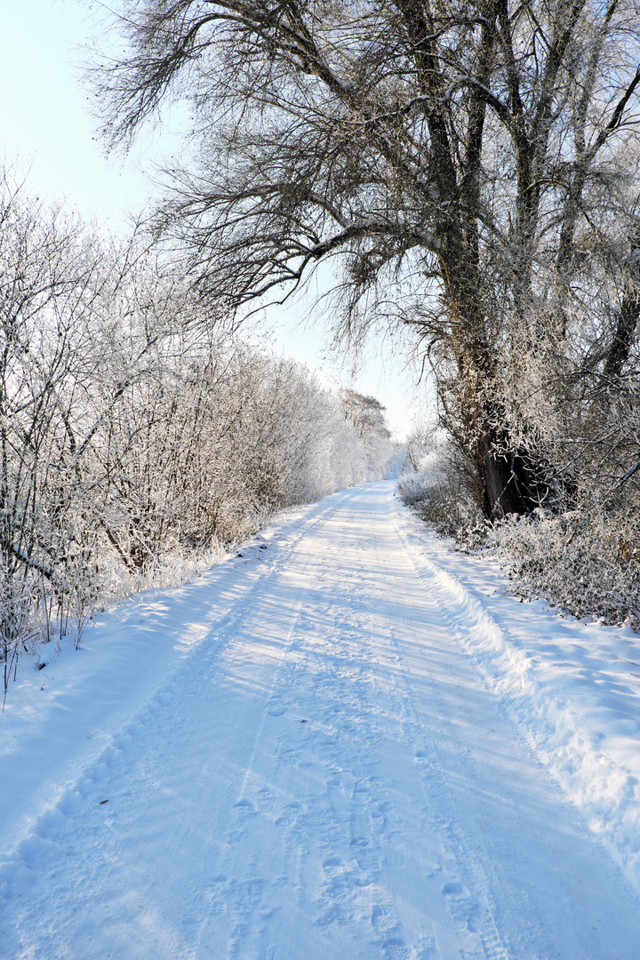
<svg viewBox="0 0 640 960"><path fill-rule="evenodd" d="M12 684L0 956L640 956L640 638L391 483L240 554Z"/></svg>

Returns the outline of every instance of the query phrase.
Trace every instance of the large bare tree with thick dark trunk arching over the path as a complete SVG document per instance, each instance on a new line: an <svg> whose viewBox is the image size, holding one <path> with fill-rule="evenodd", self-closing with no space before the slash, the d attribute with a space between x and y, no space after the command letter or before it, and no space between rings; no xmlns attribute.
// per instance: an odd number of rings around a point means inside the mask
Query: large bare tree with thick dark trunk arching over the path
<svg viewBox="0 0 640 960"><path fill-rule="evenodd" d="M415 326L486 514L544 499L510 386L571 353L589 297L607 303L601 367L624 367L637 326L633 0L122 6L126 52L97 67L105 131L127 142L190 98L195 157L169 171L156 227L201 291L286 297L336 258L348 332Z"/></svg>

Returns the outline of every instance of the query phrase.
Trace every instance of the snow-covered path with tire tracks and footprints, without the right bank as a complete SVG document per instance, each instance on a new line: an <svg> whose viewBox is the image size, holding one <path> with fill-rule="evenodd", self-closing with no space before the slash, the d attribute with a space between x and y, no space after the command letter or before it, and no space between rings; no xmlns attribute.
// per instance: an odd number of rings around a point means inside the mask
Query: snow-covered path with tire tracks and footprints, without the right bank
<svg viewBox="0 0 640 960"><path fill-rule="evenodd" d="M32 822L14 849L0 826L0 956L640 956L635 893L401 516L369 485L256 541L55 802L12 792Z"/></svg>

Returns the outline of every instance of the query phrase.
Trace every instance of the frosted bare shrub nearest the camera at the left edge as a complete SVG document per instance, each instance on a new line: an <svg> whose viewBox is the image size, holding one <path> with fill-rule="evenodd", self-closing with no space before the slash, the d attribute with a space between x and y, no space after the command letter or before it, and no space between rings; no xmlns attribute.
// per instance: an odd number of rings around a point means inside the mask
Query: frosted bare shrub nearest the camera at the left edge
<svg viewBox="0 0 640 960"><path fill-rule="evenodd" d="M86 386L99 253L73 218L0 189L0 659L8 669L83 590L91 536L80 512L69 404ZM74 492L78 492L78 496ZM73 504L73 506L72 506ZM79 576L80 574L80 576Z"/></svg>

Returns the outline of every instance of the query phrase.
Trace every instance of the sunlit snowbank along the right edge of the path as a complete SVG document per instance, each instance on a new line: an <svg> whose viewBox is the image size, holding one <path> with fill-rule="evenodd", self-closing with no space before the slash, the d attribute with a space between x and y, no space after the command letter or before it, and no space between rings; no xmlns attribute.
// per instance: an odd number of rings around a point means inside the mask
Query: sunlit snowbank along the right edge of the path
<svg viewBox="0 0 640 960"><path fill-rule="evenodd" d="M640 892L640 637L521 602L497 563L393 511L463 649Z"/></svg>

